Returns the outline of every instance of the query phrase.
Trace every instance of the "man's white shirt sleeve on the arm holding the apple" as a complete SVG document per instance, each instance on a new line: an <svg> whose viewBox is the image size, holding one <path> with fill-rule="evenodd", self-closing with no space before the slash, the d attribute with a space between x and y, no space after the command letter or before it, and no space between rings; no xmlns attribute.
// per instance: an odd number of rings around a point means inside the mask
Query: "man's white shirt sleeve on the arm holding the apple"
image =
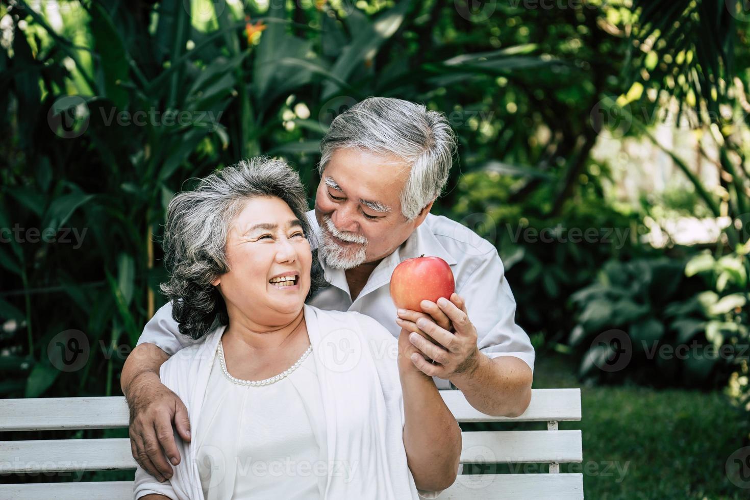
<svg viewBox="0 0 750 500"><path fill-rule="evenodd" d="M466 312L477 331L479 351L489 358L514 356L534 371L534 348L515 323L516 302L505 279L505 268L493 248L478 258L477 268L456 292L466 301Z"/></svg>

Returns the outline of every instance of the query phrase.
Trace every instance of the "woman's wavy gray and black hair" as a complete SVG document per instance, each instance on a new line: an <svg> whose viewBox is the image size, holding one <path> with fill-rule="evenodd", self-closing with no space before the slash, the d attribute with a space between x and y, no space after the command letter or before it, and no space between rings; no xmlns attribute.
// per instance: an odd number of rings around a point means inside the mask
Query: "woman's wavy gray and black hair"
<svg viewBox="0 0 750 500"><path fill-rule="evenodd" d="M161 291L172 301L172 317L181 334L198 339L229 323L226 304L211 282L229 271L229 226L242 211L243 202L256 196L287 202L302 222L305 237L315 237L305 215L305 187L284 160L243 160L202 178L194 190L179 193L169 202L163 238L169 280L161 284ZM308 298L326 284L314 251Z"/></svg>

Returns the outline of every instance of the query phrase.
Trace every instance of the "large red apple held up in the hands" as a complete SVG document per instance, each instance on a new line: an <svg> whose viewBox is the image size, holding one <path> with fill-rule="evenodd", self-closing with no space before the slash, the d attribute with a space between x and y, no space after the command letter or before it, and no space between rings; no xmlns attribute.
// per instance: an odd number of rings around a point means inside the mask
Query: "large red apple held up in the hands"
<svg viewBox="0 0 750 500"><path fill-rule="evenodd" d="M440 257L406 259L391 275L391 298L399 309L424 313L419 305L422 301L437 302L441 297L451 300L453 292L453 271Z"/></svg>

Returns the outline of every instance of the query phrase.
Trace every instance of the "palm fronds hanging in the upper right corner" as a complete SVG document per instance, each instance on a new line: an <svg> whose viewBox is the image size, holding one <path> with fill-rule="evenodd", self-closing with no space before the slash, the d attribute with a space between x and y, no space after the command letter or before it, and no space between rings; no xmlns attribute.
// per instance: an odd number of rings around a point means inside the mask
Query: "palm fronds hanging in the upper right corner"
<svg viewBox="0 0 750 500"><path fill-rule="evenodd" d="M730 217L728 251L750 238L750 166L746 97L750 16L741 0L633 0L631 49L625 66L629 90L611 112L670 155L713 217ZM715 165L720 189L709 192L687 162L655 138L662 121L686 126L700 139L698 153ZM718 151L718 159L709 154Z"/></svg>

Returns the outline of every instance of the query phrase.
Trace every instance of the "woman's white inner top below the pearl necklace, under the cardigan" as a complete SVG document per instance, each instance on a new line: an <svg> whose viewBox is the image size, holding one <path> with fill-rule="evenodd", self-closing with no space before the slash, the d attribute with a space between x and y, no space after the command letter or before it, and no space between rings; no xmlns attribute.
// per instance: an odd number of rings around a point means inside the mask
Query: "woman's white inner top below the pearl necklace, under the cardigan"
<svg viewBox="0 0 750 500"><path fill-rule="evenodd" d="M328 471L317 436L325 435L326 417L313 356L260 386L233 382L219 361L220 355L196 432L205 499L224 500L229 492L233 499L322 498Z"/></svg>

